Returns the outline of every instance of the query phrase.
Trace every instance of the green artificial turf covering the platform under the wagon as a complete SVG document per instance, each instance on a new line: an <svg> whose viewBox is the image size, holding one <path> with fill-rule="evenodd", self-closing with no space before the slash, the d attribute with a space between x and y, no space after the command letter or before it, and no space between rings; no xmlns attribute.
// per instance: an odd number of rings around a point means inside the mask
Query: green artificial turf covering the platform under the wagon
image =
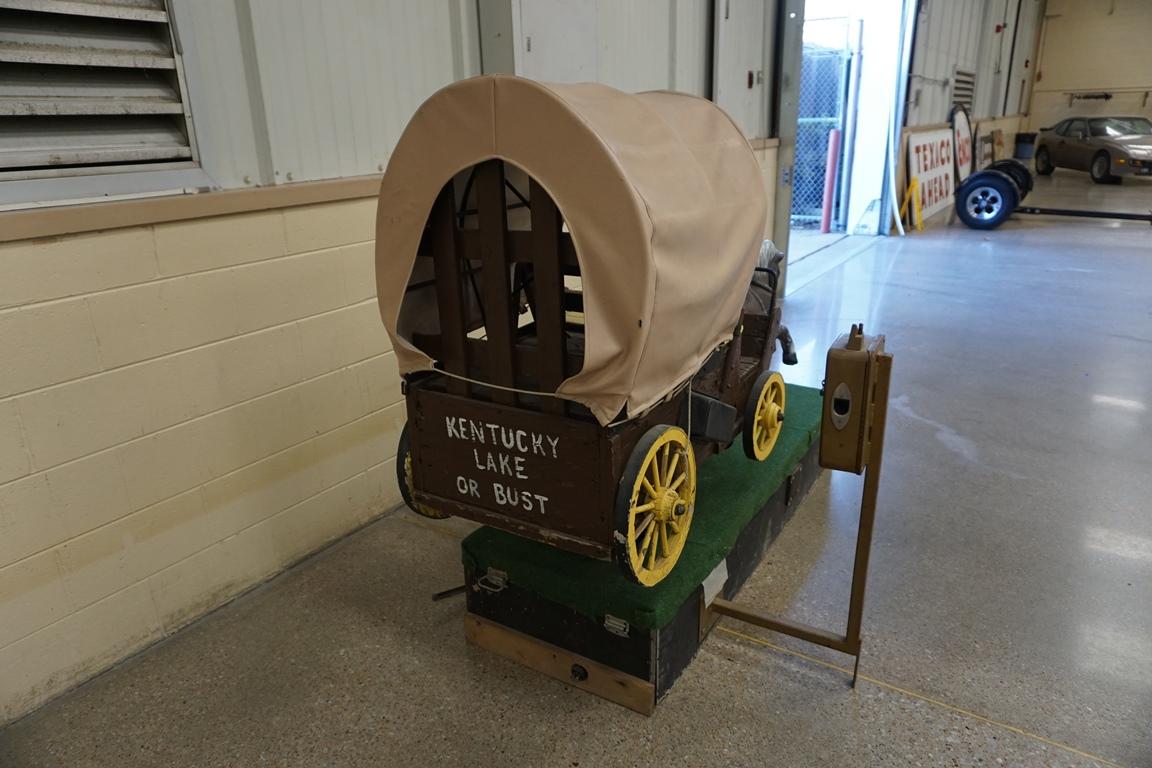
<svg viewBox="0 0 1152 768"><path fill-rule="evenodd" d="M611 614L635 626L662 628L804 458L820 431L820 408L819 390L788 385L783 429L766 461L746 458L737 438L700 465L688 542L672 573L654 587L631 581L616 563L492 527L464 539L464 567L480 573L488 568L505 571L510 583L597 621Z"/></svg>

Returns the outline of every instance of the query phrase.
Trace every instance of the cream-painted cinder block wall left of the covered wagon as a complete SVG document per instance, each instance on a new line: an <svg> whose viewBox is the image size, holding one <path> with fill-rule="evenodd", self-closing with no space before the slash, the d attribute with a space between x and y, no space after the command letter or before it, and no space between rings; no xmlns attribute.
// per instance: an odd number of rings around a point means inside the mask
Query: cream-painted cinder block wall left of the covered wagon
<svg viewBox="0 0 1152 768"><path fill-rule="evenodd" d="M374 212L0 244L0 723L399 503Z"/></svg>

